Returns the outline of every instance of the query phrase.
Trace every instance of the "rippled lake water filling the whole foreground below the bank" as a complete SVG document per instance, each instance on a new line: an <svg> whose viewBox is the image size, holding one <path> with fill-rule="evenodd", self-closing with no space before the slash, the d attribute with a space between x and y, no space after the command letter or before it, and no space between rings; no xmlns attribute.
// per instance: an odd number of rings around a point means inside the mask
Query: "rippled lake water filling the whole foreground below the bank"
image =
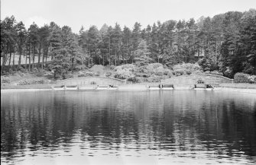
<svg viewBox="0 0 256 165"><path fill-rule="evenodd" d="M256 95L1 94L1 164L256 163Z"/></svg>

